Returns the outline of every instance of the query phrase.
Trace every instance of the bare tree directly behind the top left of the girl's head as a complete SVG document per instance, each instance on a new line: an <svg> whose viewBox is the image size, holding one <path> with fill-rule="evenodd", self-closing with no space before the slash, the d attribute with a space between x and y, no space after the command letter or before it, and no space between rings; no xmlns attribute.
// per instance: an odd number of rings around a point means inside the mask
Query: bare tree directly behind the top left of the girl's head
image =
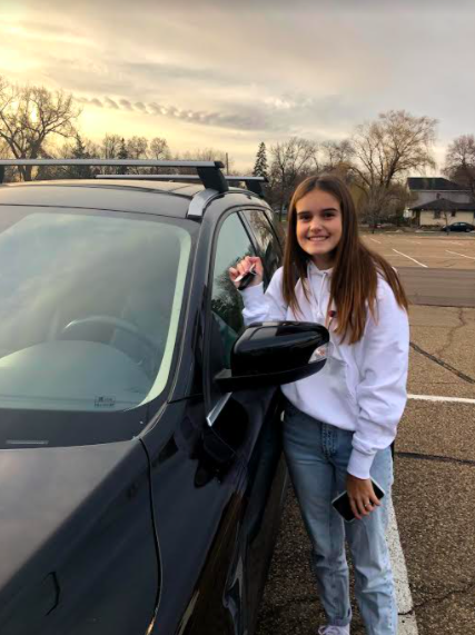
<svg viewBox="0 0 475 635"><path fill-rule="evenodd" d="M293 190L298 181L311 170L318 169L318 145L299 137L276 143L270 148L270 192L273 201L278 206L279 218L288 205Z"/></svg>

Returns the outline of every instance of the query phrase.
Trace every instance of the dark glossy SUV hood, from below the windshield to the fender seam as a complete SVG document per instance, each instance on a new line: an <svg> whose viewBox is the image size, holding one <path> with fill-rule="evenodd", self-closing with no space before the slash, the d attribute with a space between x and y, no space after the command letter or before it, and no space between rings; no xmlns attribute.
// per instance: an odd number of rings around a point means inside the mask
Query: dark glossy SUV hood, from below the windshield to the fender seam
<svg viewBox="0 0 475 635"><path fill-rule="evenodd" d="M148 467L138 439L0 453L2 634L145 632L159 591Z"/></svg>

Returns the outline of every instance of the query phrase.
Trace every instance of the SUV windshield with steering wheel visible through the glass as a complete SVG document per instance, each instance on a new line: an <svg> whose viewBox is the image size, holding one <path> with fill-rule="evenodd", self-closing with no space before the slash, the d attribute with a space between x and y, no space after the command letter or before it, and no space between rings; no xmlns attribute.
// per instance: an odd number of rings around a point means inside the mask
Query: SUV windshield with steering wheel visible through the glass
<svg viewBox="0 0 475 635"><path fill-rule="evenodd" d="M156 398L189 232L162 217L0 210L0 407L98 413Z"/></svg>

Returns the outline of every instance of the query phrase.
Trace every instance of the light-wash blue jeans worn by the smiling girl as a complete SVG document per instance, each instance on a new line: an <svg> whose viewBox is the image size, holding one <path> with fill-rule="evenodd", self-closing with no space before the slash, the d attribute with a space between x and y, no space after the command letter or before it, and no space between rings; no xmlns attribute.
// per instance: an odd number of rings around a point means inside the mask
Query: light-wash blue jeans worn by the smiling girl
<svg viewBox="0 0 475 635"><path fill-rule="evenodd" d="M387 502L393 484L390 448L376 454L370 474L386 496L362 520L345 523L331 500L346 489L353 433L323 424L287 405L284 450L301 516L311 540L311 565L328 624L352 621L345 537L355 565L355 593L368 635L395 635L397 606L386 545Z"/></svg>

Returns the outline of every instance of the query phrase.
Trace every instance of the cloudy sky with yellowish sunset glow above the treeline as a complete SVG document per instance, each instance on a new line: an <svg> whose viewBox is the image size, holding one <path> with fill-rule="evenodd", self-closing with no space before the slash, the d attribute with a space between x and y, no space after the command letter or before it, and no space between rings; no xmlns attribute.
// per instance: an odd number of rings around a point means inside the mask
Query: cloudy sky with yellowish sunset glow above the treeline
<svg viewBox="0 0 475 635"><path fill-rule="evenodd" d="M83 136L165 137L251 169L388 110L475 133L472 0L0 0L0 75L73 95Z"/></svg>

